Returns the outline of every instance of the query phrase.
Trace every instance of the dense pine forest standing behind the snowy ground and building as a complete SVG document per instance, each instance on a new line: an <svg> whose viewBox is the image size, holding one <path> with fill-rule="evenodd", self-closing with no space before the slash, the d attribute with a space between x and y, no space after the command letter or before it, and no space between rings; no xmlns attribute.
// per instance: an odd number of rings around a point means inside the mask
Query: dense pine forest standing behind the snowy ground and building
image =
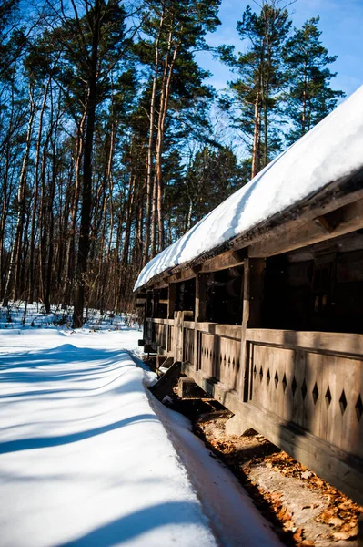
<svg viewBox="0 0 363 547"><path fill-rule="evenodd" d="M243 6L233 44L219 0L2 0L4 306L131 311L156 253L353 90L298 2Z"/></svg>

